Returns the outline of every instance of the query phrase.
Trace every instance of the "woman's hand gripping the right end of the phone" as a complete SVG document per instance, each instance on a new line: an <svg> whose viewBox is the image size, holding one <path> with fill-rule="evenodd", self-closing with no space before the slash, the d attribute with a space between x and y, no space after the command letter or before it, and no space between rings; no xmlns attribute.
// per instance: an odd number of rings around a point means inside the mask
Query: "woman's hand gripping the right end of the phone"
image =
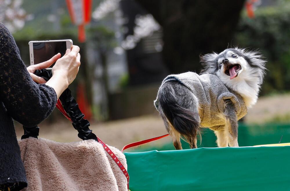
<svg viewBox="0 0 290 191"><path fill-rule="evenodd" d="M79 71L80 58L78 46L74 45L72 50L67 49L65 55L52 67L52 76L61 75L67 80L68 85L71 84Z"/></svg>

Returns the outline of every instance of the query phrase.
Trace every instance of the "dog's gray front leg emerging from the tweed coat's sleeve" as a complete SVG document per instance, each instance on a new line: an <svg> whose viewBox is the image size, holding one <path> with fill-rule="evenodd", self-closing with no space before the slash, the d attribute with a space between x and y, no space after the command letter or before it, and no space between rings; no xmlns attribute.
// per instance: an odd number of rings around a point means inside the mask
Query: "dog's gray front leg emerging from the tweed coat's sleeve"
<svg viewBox="0 0 290 191"><path fill-rule="evenodd" d="M231 101L225 102L225 134L230 147L238 147L238 120L235 113L235 106Z"/></svg>

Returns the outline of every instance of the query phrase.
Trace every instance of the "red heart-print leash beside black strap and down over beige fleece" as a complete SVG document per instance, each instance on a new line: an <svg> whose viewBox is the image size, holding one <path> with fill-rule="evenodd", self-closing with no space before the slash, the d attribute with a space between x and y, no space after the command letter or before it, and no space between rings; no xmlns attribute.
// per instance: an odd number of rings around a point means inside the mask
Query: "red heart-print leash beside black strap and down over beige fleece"
<svg viewBox="0 0 290 191"><path fill-rule="evenodd" d="M59 109L59 111L64 114L64 116L66 116L66 118L68 120L70 120L71 122L73 122L70 118L70 116L68 116L68 114L66 113L66 111L64 110L64 107L62 107L62 104L60 102L60 100L57 100L56 103L56 107L57 109ZM119 166L119 168L122 170L123 174L126 176L127 179L127 187L129 190L129 174L127 172L127 170L125 169L125 167L122 165L122 163L119 161L118 157L113 153L113 151L110 150L110 148L108 147L108 145L106 145L99 137L98 137L99 143L102 144L102 146L104 147L105 151L110 155L110 157L113 158L113 160L115 161L115 163ZM150 141L149 141L150 142ZM147 142L148 143L148 142ZM124 148L123 148L124 149ZM122 151L123 151L122 149Z"/></svg>

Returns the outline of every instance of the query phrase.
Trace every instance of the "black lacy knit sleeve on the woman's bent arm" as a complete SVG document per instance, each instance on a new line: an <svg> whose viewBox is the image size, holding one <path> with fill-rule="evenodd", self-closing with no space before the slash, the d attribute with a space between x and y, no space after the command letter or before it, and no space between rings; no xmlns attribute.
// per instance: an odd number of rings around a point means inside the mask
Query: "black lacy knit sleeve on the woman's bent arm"
<svg viewBox="0 0 290 191"><path fill-rule="evenodd" d="M13 119L27 127L35 126L47 118L57 101L52 87L33 82L14 38L1 23L0 101Z"/></svg>

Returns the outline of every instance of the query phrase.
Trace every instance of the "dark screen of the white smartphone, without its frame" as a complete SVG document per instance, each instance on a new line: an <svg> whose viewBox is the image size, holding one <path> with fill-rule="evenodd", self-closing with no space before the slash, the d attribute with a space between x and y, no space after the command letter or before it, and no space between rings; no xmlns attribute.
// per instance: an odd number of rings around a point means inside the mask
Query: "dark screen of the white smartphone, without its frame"
<svg viewBox="0 0 290 191"><path fill-rule="evenodd" d="M66 53L66 41L33 43L34 64L45 62L57 53L60 53L61 57ZM50 68L54 65L55 63L53 63Z"/></svg>

